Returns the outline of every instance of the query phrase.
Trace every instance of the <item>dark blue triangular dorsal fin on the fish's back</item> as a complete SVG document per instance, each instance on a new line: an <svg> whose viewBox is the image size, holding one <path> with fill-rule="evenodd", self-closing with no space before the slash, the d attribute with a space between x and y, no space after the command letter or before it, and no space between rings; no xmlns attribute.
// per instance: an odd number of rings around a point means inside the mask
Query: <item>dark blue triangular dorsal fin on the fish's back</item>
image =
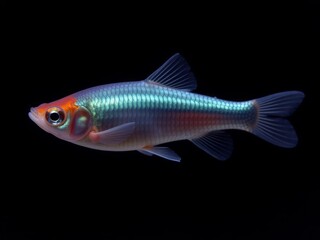
<svg viewBox="0 0 320 240"><path fill-rule="evenodd" d="M197 81L191 72L189 64L179 53L169 58L145 81L155 82L183 91L192 91L197 88Z"/></svg>

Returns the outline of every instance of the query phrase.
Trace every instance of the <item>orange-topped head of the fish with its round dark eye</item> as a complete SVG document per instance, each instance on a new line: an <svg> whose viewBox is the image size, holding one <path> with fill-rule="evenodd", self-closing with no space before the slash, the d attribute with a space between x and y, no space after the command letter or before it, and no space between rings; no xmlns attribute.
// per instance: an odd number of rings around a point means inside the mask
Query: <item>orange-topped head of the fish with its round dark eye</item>
<svg viewBox="0 0 320 240"><path fill-rule="evenodd" d="M73 96L31 108L29 117L46 132L70 142L85 138L92 129L92 115Z"/></svg>

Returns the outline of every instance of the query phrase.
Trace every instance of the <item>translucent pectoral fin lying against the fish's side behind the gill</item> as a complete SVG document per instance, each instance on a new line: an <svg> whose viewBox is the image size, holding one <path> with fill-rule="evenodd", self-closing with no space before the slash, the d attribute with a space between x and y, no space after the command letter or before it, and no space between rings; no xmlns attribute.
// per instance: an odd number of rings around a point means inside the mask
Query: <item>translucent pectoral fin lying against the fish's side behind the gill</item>
<svg viewBox="0 0 320 240"><path fill-rule="evenodd" d="M134 128L134 122L125 123L102 132L92 132L89 138L104 145L117 145L130 137Z"/></svg>

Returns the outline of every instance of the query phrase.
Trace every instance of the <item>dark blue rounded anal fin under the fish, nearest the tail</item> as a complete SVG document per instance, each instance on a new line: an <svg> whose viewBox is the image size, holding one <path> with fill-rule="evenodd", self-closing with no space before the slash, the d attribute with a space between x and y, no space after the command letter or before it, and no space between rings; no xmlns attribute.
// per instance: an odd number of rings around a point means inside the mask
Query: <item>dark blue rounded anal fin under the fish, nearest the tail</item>
<svg viewBox="0 0 320 240"><path fill-rule="evenodd" d="M233 141L230 135L224 131L214 131L190 141L219 160L228 159L233 150Z"/></svg>

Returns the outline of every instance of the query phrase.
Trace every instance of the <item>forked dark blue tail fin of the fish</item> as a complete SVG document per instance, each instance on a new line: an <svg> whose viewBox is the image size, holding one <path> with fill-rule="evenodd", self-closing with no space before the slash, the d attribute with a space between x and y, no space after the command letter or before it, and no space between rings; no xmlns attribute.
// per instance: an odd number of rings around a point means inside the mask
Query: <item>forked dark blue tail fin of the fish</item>
<svg viewBox="0 0 320 240"><path fill-rule="evenodd" d="M303 98L302 92L288 91L256 99L258 116L252 133L279 147L295 147L298 137L285 117L297 109Z"/></svg>

